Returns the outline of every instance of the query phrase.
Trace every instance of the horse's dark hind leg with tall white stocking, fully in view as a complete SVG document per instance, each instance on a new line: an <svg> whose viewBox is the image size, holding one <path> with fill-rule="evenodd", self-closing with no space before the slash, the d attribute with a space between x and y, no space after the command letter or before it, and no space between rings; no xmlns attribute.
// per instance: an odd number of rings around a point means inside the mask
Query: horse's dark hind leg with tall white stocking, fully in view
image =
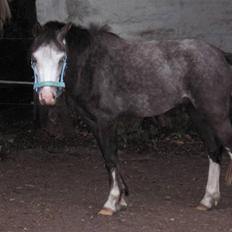
<svg viewBox="0 0 232 232"><path fill-rule="evenodd" d="M191 118L208 149L209 171L204 197L197 209L208 210L218 204L220 199L220 163L223 147L212 127L192 106L188 108Z"/></svg>

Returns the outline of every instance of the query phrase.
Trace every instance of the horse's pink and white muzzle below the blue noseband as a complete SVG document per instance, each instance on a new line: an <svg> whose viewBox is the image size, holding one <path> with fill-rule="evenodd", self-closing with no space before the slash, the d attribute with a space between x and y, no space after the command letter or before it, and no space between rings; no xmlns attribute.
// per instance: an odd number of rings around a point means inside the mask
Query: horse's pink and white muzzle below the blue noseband
<svg viewBox="0 0 232 232"><path fill-rule="evenodd" d="M56 91L54 87L42 87L39 90L39 102L41 105L53 106L56 104Z"/></svg>

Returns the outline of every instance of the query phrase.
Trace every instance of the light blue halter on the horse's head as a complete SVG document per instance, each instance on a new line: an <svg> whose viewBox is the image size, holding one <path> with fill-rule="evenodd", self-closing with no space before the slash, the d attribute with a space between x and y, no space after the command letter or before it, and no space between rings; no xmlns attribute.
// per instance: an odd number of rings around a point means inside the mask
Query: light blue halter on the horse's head
<svg viewBox="0 0 232 232"><path fill-rule="evenodd" d="M36 73L36 63L31 61L31 68L34 71L34 85L33 89L38 92L39 88L44 87L44 86L52 86L52 87L57 87L58 92L61 93L62 89L65 88L65 83L64 83L64 74L65 74L65 69L67 66L67 56L65 56L63 60L63 65L61 68L61 73L60 73L60 78L59 81L39 81L38 75Z"/></svg>

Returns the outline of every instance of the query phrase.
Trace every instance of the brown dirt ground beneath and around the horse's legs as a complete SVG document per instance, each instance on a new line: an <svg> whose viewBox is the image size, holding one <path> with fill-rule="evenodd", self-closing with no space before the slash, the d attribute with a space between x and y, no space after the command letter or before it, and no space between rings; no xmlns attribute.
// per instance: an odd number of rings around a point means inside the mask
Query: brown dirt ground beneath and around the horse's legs
<svg viewBox="0 0 232 232"><path fill-rule="evenodd" d="M219 206L195 209L208 173L199 139L169 136L154 149L120 150L128 208L104 217L97 212L107 198L108 176L91 135L80 132L76 142L57 145L40 134L32 139L24 122L2 122L9 149L0 153L0 232L232 232L227 156Z"/></svg>

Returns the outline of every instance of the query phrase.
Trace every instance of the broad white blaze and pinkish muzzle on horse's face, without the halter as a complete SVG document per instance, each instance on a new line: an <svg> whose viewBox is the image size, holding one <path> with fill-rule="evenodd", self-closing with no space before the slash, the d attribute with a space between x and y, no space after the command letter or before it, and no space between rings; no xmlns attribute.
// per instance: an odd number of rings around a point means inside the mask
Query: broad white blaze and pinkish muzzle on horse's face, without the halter
<svg viewBox="0 0 232 232"><path fill-rule="evenodd" d="M39 47L33 54L36 61L35 72L39 82L59 81L65 53L55 45ZM45 86L39 90L39 100L42 105L54 105L56 102L56 87Z"/></svg>

